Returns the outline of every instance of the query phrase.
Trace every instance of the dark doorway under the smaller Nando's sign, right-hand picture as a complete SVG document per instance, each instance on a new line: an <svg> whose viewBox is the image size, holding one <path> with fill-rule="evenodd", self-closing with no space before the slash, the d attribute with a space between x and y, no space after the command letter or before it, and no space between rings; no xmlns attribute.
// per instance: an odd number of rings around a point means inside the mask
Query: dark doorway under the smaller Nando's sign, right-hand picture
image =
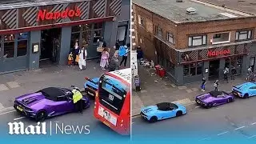
<svg viewBox="0 0 256 144"><path fill-rule="evenodd" d="M217 79L219 75L219 60L209 62L209 80Z"/></svg>

